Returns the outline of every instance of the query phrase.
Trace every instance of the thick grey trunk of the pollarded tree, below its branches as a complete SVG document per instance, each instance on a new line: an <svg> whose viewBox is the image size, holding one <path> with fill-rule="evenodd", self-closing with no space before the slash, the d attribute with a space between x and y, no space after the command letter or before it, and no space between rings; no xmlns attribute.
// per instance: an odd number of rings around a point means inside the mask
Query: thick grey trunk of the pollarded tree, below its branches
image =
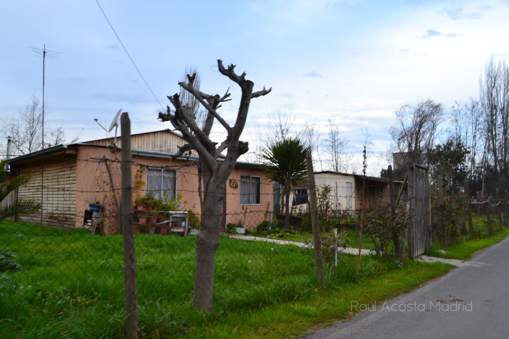
<svg viewBox="0 0 509 339"><path fill-rule="evenodd" d="M208 313L212 312L215 258L221 231L224 182L221 184L220 181L209 177L209 182L204 182L207 192L204 194L200 234L196 241L196 271L192 304L196 310Z"/></svg>

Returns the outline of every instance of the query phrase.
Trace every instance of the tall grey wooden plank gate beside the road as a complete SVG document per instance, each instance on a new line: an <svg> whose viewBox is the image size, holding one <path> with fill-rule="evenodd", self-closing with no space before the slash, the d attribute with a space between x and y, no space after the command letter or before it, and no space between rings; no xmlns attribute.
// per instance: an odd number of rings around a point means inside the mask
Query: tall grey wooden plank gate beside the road
<svg viewBox="0 0 509 339"><path fill-rule="evenodd" d="M429 170L408 164L408 208L412 219L408 225L408 255L414 258L431 246L431 189Z"/></svg>

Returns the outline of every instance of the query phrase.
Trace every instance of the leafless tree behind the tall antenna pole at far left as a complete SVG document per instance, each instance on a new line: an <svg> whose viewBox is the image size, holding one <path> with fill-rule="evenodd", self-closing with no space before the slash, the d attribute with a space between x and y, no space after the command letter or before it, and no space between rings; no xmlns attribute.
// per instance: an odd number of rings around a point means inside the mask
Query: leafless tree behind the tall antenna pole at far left
<svg viewBox="0 0 509 339"><path fill-rule="evenodd" d="M3 121L5 126L5 129L2 131L3 137L10 136L12 140L11 155L25 155L42 148L64 143L65 133L62 126L60 126L56 129L45 128L44 145L42 144L43 116L41 102L34 95L26 102L24 111L20 111L17 116L13 116L8 121ZM47 111L46 104L44 110ZM71 142L75 142L78 138L79 135L76 135Z"/></svg>

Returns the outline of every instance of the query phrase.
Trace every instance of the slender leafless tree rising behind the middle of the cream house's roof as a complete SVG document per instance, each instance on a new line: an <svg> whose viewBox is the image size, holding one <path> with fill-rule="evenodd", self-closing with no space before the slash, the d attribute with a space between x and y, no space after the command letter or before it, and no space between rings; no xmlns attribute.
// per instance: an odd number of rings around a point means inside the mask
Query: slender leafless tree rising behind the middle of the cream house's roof
<svg viewBox="0 0 509 339"><path fill-rule="evenodd" d="M329 132L323 147L328 157L329 168L334 172L348 172L353 155L347 152L348 139L341 136L340 128L332 120L327 120Z"/></svg>

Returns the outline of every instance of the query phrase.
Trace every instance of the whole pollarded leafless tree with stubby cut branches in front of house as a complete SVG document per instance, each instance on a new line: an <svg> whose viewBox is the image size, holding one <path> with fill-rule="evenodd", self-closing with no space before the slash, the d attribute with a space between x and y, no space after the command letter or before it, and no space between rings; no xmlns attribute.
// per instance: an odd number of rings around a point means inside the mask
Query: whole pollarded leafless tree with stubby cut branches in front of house
<svg viewBox="0 0 509 339"><path fill-rule="evenodd" d="M212 294L214 289L215 255L219 246L219 233L221 229L223 191L225 183L233 171L237 159L248 151L247 142L239 141L244 129L249 103L252 98L267 95L271 88L254 92L253 82L245 79L245 73L240 76L235 74L234 65L224 68L222 61L217 60L219 72L237 83L242 91L235 125L230 126L218 113L221 103L229 101L230 93L220 97L219 95L205 94L193 87L194 78L188 76L187 82L179 82L179 85L191 93L200 104L207 110L207 118L202 128L196 123L196 117L189 106L182 105L178 94L168 97L174 106L172 112L168 106L165 113L159 112L159 119L170 121L175 129L179 130L187 143L179 148L175 157L183 155L185 151L195 149L200 158L203 175L203 208L200 222L200 234L196 242L196 268L194 278L194 291L192 304L195 309L212 312ZM210 139L210 132L214 119L227 132L227 137L220 144ZM223 161L218 162L221 152L227 154Z"/></svg>

